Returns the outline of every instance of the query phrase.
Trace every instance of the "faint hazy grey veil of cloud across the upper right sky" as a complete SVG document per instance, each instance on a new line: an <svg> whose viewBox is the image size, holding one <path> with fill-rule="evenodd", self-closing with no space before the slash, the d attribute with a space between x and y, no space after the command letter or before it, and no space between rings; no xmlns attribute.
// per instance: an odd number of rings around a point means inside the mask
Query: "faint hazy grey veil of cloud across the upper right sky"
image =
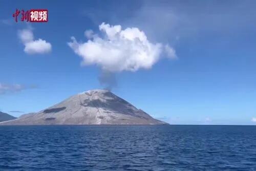
<svg viewBox="0 0 256 171"><path fill-rule="evenodd" d="M84 7L83 15L95 24L108 20L138 27L150 39L178 44L209 33L241 35L241 29L254 29L255 5L255 1L250 5L248 1L138 1L132 9L127 8L128 3L120 4L116 10L111 10L111 5L101 9Z"/></svg>

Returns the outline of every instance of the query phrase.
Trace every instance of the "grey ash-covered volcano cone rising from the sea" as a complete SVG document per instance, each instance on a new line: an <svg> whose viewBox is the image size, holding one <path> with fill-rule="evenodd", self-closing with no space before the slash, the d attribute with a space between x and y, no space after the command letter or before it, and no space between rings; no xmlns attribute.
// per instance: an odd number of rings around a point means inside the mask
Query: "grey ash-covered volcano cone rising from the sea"
<svg viewBox="0 0 256 171"><path fill-rule="evenodd" d="M165 124L107 90L74 95L46 110L0 124Z"/></svg>

